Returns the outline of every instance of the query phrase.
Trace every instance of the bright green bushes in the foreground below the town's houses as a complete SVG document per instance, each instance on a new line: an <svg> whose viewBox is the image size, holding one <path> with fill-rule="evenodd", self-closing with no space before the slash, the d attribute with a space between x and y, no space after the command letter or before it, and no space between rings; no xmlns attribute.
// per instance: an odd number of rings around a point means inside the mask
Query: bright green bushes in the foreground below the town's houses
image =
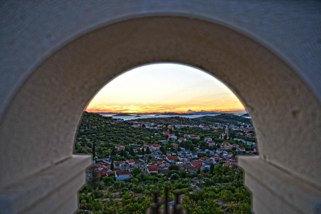
<svg viewBox="0 0 321 214"><path fill-rule="evenodd" d="M78 213L145 213L153 191L158 190L162 199L165 185L169 186L169 200L179 190L182 207L188 213L250 213L251 196L242 185L242 177L241 169L234 173L221 165L202 174L172 169L168 176L148 176L138 171L125 181L103 176L96 189L89 182L80 191Z"/></svg>

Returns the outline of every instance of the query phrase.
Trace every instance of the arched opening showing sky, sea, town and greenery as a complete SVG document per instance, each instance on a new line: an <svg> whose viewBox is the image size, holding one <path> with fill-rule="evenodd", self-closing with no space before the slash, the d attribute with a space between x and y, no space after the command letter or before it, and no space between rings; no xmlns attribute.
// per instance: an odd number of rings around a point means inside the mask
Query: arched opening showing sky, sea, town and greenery
<svg viewBox="0 0 321 214"><path fill-rule="evenodd" d="M93 162L78 212L175 209L176 191L188 212L250 212L238 156L257 149L244 104L212 74L181 63L135 67L84 110L75 153L92 153Z"/></svg>

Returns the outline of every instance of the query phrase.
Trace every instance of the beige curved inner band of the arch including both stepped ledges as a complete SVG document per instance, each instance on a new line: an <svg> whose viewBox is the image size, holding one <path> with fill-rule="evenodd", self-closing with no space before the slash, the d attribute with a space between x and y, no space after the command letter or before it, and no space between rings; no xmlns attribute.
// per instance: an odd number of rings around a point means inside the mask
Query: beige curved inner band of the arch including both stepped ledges
<svg viewBox="0 0 321 214"><path fill-rule="evenodd" d="M150 62L199 67L239 95L260 144L258 157L239 160L254 212L316 212L318 162L300 165L296 157L317 160L317 149L309 148L317 146L321 125L319 95L292 66L244 34L212 21L173 15L133 18L93 30L48 54L18 84L0 124L1 147L7 151L0 157L6 172L0 177L0 208L73 212L90 164L90 156L73 155L85 105L111 78ZM12 167L16 162L22 176Z"/></svg>

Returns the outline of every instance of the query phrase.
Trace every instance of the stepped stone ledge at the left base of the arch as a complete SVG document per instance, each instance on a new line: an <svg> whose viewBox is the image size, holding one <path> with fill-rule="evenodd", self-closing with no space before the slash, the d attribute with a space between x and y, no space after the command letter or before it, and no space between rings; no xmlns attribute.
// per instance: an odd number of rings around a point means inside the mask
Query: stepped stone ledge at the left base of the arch
<svg viewBox="0 0 321 214"><path fill-rule="evenodd" d="M61 204L77 195L77 190L85 184L84 168L91 160L91 155L72 155L19 183L6 186L0 194L1 212L42 213L41 210L60 209ZM59 199L62 202L57 203Z"/></svg>

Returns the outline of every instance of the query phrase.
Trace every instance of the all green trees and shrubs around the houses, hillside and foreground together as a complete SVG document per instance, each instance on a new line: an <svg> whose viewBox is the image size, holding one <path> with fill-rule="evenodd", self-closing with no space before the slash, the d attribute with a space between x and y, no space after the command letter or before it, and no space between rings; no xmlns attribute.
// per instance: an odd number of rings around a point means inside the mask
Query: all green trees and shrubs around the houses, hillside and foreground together
<svg viewBox="0 0 321 214"><path fill-rule="evenodd" d="M218 115L220 116L220 115ZM221 115L217 120L212 121L213 116L204 116L196 119L195 124L234 120L233 116ZM236 116L238 117L238 116ZM238 117L240 118L240 117ZM186 118L170 117L165 118L164 124L170 124L171 120ZM243 118L240 118L243 119ZM246 119L246 118L244 118ZM137 119L150 121L151 119ZM162 118L164 120L164 118ZM153 119L153 121L155 121ZM246 119L250 123L249 119ZM157 121L155 121L157 123ZM190 124L193 123L184 123ZM163 129L166 130L166 129ZM161 151L173 150L169 143L160 143L158 140L166 140L167 137L160 134L163 130L151 130L146 128L133 128L126 122L116 122L111 117L103 117L99 114L85 112L79 126L76 137L75 153L92 153L93 149L98 156L111 155L111 160L125 160L134 158L138 160L138 154L133 149L139 148L143 144L158 143L161 144ZM155 135L155 132L157 135ZM204 146L204 137L210 136L217 143L233 140L219 139L219 133L213 130L203 130L201 128L182 128L171 131L180 137L184 134L195 134L200 136L200 140L192 139L180 143L180 147L185 147L191 151L196 151L196 146ZM233 133L231 133L233 135ZM235 133L234 133L235 135ZM244 138L244 136L236 136ZM177 141L176 141L177 142ZM115 150L115 144L125 145L124 151ZM253 147L238 143L246 147L246 150L253 150ZM206 143L205 143L206 145ZM205 146L204 146L205 148ZM216 149L214 146L212 149ZM199 157L211 157L209 152L198 152ZM233 156L235 156L233 154ZM152 156L148 157L153 161ZM223 162L222 162L223 163ZM135 168L131 174L132 177L125 181L116 181L115 176L109 175L97 177L95 173L83 187L79 194L80 210L77 213L145 213L151 206L152 193L157 190L162 200L164 186L169 186L169 198L173 200L176 190L181 193L182 207L188 213L250 213L250 193L243 186L243 172L236 166L233 168L223 167L221 164L211 170L198 171L195 174L189 174L176 165L170 166L167 175L146 175L138 168ZM162 204L162 201L160 201ZM163 206L163 204L162 204Z"/></svg>

